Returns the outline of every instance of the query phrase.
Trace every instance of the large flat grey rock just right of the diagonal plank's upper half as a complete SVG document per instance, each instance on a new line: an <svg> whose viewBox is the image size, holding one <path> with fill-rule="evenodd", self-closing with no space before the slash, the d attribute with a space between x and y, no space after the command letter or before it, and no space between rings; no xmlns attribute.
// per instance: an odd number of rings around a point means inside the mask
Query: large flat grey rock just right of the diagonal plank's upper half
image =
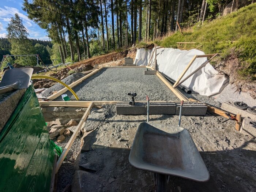
<svg viewBox="0 0 256 192"><path fill-rule="evenodd" d="M94 111L88 116L87 121L83 124L84 132L88 132L95 128L98 128L100 125L104 123L105 118L105 113L97 113L96 111Z"/></svg>

